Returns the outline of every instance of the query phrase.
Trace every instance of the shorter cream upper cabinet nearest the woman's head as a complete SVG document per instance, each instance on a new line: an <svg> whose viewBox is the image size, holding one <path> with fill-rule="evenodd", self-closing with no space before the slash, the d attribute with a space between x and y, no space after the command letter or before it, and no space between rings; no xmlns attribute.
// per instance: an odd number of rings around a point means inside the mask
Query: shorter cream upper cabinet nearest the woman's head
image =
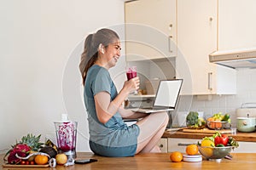
<svg viewBox="0 0 256 170"><path fill-rule="evenodd" d="M176 0L125 3L126 60L175 57Z"/></svg>

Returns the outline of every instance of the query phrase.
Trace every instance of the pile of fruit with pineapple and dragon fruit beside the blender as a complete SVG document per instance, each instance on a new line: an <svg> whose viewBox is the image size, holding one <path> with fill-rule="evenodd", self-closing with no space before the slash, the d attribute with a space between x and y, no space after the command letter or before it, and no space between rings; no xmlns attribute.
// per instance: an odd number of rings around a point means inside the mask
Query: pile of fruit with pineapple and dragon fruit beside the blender
<svg viewBox="0 0 256 170"><path fill-rule="evenodd" d="M56 163L63 165L67 163L67 156L58 153L55 144L48 140L45 144L40 142L41 135L36 137L32 134L23 136L20 142L12 145L4 156L4 160L14 165L45 165L49 159L55 158Z"/></svg>

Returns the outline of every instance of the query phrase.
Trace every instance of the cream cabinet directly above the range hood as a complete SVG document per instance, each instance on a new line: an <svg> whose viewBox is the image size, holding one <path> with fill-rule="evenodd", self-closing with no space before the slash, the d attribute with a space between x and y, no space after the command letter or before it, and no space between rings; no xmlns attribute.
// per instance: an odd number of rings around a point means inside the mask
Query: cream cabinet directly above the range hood
<svg viewBox="0 0 256 170"><path fill-rule="evenodd" d="M256 47L256 1L218 1L218 50Z"/></svg>

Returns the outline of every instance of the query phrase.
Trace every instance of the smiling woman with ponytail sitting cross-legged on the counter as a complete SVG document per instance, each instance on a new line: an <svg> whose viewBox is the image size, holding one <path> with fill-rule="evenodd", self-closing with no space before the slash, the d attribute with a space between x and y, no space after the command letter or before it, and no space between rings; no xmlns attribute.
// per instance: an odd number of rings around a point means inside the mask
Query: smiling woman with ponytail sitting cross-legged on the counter
<svg viewBox="0 0 256 170"><path fill-rule="evenodd" d="M139 88L139 77L125 81L119 94L108 70L116 65L121 45L116 32L101 29L84 42L79 69L84 84L84 104L88 112L90 149L100 156L134 156L160 152L156 145L166 129L166 112L145 115L125 110L123 101ZM127 126L123 119L142 118Z"/></svg>

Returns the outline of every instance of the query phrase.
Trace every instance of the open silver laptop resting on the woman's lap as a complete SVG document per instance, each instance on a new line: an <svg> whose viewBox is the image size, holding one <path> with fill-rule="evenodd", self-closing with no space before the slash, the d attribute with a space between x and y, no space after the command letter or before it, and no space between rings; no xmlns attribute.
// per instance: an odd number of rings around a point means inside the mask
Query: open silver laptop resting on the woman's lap
<svg viewBox="0 0 256 170"><path fill-rule="evenodd" d="M136 108L131 111L154 113L159 111L174 111L182 87L183 79L161 80L155 94L152 107Z"/></svg>

